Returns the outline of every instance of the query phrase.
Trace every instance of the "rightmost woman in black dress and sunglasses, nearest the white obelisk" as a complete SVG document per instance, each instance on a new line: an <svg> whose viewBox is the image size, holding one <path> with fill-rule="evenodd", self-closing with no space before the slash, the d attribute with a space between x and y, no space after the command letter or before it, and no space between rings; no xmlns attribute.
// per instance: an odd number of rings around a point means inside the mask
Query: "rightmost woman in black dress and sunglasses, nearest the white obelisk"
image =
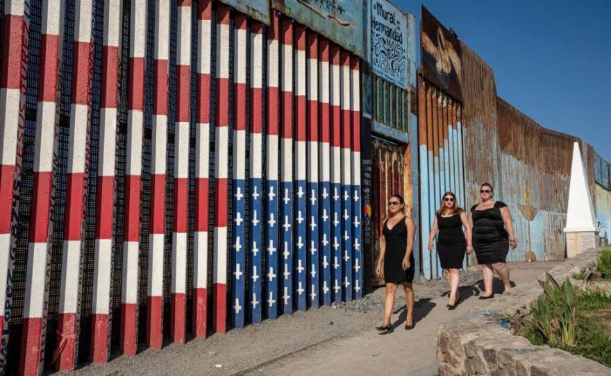
<svg viewBox="0 0 611 376"><path fill-rule="evenodd" d="M494 296L492 280L494 272L501 277L504 291L509 291L509 268L506 258L509 247L516 248L511 212L505 203L493 200L492 185L487 182L480 187L482 202L471 207L469 223L473 228L473 248L482 266L484 275L484 294L480 299L489 299Z"/></svg>

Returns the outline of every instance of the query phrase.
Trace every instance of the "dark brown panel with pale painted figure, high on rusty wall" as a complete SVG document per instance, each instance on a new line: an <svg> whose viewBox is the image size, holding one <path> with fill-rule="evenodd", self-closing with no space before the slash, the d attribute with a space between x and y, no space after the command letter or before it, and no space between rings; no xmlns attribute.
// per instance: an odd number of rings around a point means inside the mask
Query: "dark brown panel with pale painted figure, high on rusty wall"
<svg viewBox="0 0 611 376"><path fill-rule="evenodd" d="M420 56L424 78L462 102L462 52L458 37L422 7Z"/></svg>

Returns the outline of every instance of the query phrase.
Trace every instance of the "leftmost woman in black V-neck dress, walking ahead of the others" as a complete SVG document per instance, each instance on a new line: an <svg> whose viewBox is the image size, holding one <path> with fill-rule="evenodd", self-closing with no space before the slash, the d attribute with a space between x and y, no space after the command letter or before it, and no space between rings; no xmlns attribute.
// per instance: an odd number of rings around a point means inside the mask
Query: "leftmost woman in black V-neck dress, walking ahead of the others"
<svg viewBox="0 0 611 376"><path fill-rule="evenodd" d="M416 233L414 221L403 212L405 203L403 197L394 194L388 200L388 219L384 222L382 230L382 247L376 274L378 277L384 275L386 282L386 296L384 303L384 320L382 326L376 327L381 330L380 334L392 333L390 316L394 306L394 292L396 285L402 284L405 290L405 306L408 308L408 316L405 318L405 330L414 327L414 255L412 246ZM382 269L384 262L384 269ZM382 271L384 270L384 273Z"/></svg>

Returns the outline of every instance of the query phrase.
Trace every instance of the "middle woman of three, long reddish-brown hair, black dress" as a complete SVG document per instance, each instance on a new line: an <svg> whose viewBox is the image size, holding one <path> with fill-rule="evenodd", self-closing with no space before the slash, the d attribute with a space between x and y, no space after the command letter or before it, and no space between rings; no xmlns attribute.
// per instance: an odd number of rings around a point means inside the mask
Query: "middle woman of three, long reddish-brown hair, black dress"
<svg viewBox="0 0 611 376"><path fill-rule="evenodd" d="M464 232L462 228L464 226ZM446 192L442 198L440 208L435 212L433 228L428 234L428 250L433 252L433 240L437 237L437 254L444 269L444 275L450 285L450 296L448 297L448 309L454 309L460 304L461 298L458 293L460 281L460 268L464 253L473 252L471 247L471 225L467 214L458 206L456 196L453 192ZM465 239L466 238L466 239Z"/></svg>

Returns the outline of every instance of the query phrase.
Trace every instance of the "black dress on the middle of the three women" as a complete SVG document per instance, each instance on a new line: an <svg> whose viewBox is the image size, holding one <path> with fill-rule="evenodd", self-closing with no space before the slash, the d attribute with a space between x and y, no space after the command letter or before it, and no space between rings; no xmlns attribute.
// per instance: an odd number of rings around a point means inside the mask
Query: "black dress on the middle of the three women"
<svg viewBox="0 0 611 376"><path fill-rule="evenodd" d="M439 254L442 268L460 269L462 259L467 251L467 241L462 232L460 214L443 217L437 214L437 254Z"/></svg>

